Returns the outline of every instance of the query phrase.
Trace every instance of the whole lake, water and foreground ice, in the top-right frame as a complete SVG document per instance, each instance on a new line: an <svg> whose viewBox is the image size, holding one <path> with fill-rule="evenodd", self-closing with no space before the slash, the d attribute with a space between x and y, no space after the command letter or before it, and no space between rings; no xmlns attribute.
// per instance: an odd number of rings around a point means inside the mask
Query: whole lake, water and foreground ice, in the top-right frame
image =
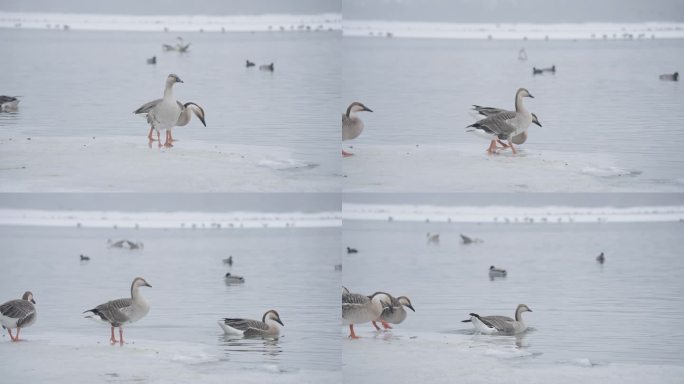
<svg viewBox="0 0 684 384"><path fill-rule="evenodd" d="M684 67L683 39L345 37L342 49L344 104L374 111L345 143L357 155L343 161L345 190L684 190L684 89L658 79ZM555 75L532 74L551 65ZM543 127L530 127L517 158L488 157L465 132L469 109L513 109L519 87Z"/></svg>

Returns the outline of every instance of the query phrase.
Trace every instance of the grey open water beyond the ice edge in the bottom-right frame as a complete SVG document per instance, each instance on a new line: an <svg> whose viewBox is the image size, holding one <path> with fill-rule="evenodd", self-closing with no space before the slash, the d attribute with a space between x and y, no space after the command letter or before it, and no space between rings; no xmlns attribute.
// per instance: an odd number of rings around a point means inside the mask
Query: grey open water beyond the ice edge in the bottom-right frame
<svg viewBox="0 0 684 384"><path fill-rule="evenodd" d="M513 317L519 303L531 329L478 342L527 349L534 361L573 359L682 364L684 262L681 223L435 224L345 221L344 285L411 298L416 312L394 332L472 334L468 313ZM440 233L439 245L426 244ZM459 233L482 244L461 245ZM594 258L606 254L604 265ZM496 265L508 277L491 281ZM360 326L369 333L369 325ZM368 335L364 335L369 337Z"/></svg>

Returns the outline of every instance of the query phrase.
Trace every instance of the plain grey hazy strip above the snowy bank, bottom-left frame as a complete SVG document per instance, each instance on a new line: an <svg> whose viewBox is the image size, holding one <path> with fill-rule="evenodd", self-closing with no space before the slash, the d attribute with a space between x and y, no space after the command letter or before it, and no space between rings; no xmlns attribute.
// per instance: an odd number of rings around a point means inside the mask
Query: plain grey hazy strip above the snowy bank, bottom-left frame
<svg viewBox="0 0 684 384"><path fill-rule="evenodd" d="M0 208L147 212L339 211L337 193L3 193Z"/></svg>

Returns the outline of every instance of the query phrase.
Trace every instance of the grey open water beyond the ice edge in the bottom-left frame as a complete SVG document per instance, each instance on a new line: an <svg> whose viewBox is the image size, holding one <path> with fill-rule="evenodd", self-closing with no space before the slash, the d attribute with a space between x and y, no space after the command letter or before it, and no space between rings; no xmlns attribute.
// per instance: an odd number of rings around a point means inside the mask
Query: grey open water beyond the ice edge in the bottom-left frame
<svg viewBox="0 0 684 384"><path fill-rule="evenodd" d="M87 335L106 343L109 329L81 312L106 300L126 297L135 276L153 288L142 291L151 304L147 317L128 327L129 342L144 339L204 344L222 356L223 371L339 370L339 230L114 230L2 227L5 277L2 301L33 291L38 321L29 332ZM143 241L143 251L108 249L106 241ZM40 241L36 241L40 239ZM82 263L79 254L91 261ZM232 268L222 259L232 255ZM232 272L242 285L226 285ZM21 291L21 292L19 292ZM231 340L216 324L222 317L261 320L268 309L285 327L277 340ZM27 333L27 337L29 335ZM142 340L141 340L142 339ZM77 346L76 346L77 347Z"/></svg>

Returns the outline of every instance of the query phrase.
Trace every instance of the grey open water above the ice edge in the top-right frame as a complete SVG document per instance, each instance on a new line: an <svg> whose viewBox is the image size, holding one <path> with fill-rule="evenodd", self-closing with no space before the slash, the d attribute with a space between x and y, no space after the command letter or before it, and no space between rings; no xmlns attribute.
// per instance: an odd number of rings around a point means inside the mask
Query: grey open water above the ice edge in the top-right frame
<svg viewBox="0 0 684 384"><path fill-rule="evenodd" d="M527 61L519 61L525 48ZM684 40L469 41L344 38L342 98L363 101L372 144L482 142L464 132L472 104L513 109L515 91L543 127L525 146L613 154L653 179L684 177ZM532 67L555 64L555 75Z"/></svg>

